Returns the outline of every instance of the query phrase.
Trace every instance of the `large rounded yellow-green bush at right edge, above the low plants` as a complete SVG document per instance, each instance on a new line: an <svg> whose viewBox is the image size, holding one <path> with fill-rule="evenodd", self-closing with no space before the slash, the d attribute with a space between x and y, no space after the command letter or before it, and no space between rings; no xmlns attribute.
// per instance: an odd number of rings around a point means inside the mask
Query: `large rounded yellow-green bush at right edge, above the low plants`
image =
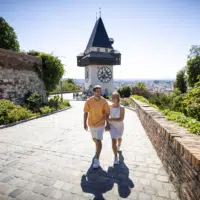
<svg viewBox="0 0 200 200"><path fill-rule="evenodd" d="M188 116L200 121L200 81L185 95L183 105Z"/></svg>

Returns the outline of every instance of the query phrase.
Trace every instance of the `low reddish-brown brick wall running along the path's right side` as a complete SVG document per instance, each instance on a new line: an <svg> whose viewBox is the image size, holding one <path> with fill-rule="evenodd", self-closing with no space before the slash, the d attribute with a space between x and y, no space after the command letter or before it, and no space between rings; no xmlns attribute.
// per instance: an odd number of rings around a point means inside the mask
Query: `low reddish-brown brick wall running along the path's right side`
<svg viewBox="0 0 200 200"><path fill-rule="evenodd" d="M135 110L182 200L200 200L200 136L134 100Z"/></svg>

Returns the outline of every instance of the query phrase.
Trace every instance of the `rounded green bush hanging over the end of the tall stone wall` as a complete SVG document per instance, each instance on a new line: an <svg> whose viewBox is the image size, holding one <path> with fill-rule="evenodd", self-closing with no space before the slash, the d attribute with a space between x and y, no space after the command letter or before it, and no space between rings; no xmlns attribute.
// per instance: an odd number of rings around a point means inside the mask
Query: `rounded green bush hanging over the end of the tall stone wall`
<svg viewBox="0 0 200 200"><path fill-rule="evenodd" d="M27 54L40 57L42 59L42 72L43 81L47 90L47 93L56 89L60 79L64 74L64 66L58 57L51 54L46 54L37 51L29 51Z"/></svg>

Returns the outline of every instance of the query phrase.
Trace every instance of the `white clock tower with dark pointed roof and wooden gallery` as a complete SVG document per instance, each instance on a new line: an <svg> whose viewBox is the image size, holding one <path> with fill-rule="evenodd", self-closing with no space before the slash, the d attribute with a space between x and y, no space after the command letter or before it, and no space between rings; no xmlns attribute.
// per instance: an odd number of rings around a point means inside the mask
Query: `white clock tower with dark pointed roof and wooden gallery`
<svg viewBox="0 0 200 200"><path fill-rule="evenodd" d="M77 56L77 65L85 67L85 89L102 86L102 93L114 91L113 65L121 64L121 54L112 47L114 40L108 37L102 18L94 26L85 51Z"/></svg>

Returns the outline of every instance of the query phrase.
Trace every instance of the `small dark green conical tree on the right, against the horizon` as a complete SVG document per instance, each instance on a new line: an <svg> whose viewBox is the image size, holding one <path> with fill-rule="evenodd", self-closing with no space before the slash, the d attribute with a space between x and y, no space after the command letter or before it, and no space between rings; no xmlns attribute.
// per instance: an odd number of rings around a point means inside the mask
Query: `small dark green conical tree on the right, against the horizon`
<svg viewBox="0 0 200 200"><path fill-rule="evenodd" d="M186 93L187 82L185 77L185 69L180 70L176 75L176 80L174 82L174 88L177 88L181 93Z"/></svg>

